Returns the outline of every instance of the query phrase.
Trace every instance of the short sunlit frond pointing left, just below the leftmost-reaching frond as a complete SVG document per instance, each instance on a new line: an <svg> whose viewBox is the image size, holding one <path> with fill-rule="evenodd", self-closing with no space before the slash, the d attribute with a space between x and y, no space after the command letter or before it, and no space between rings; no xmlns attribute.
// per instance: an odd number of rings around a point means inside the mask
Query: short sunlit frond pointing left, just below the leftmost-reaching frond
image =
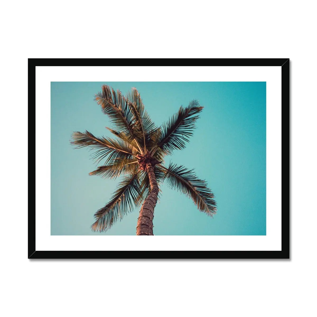
<svg viewBox="0 0 317 317"><path fill-rule="evenodd" d="M99 175L103 178L117 178L120 174L134 174L138 171L139 165L135 159L117 159L109 165L98 166L89 175Z"/></svg>

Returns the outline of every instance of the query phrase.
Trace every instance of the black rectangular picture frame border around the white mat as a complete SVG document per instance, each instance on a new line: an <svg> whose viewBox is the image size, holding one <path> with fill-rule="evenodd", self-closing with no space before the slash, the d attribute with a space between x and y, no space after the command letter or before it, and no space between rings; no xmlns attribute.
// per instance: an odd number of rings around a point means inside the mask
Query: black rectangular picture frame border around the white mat
<svg viewBox="0 0 317 317"><path fill-rule="evenodd" d="M28 59L28 258L29 259L289 259L289 58L276 59ZM42 251L36 250L36 66L208 65L281 67L281 251ZM32 139L33 140L33 139Z"/></svg>

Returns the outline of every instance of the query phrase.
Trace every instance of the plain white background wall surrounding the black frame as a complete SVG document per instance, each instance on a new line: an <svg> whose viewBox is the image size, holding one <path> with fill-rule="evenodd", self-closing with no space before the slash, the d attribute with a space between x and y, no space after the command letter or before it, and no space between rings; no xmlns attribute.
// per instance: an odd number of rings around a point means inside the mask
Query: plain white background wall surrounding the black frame
<svg viewBox="0 0 317 317"><path fill-rule="evenodd" d="M204 3L2 4L0 309L4 316L313 315L316 23L312 2ZM289 57L291 260L28 260L28 57Z"/></svg>

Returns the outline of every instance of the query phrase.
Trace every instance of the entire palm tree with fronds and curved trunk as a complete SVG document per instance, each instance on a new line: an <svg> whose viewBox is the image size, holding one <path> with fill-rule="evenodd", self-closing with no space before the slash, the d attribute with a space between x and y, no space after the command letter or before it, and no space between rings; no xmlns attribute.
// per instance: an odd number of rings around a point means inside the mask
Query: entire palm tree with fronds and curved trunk
<svg viewBox="0 0 317 317"><path fill-rule="evenodd" d="M183 192L190 197L200 211L212 216L216 213L216 202L213 193L204 180L197 178L194 170L183 165L170 163L164 166L163 158L176 149L183 149L185 142L195 128L203 107L197 100L188 107L180 107L167 122L156 126L144 109L140 94L132 88L126 96L119 90L103 85L102 92L95 95L113 123L113 129L107 128L115 135L115 139L95 137L85 131L72 134L76 148L91 147L96 162L104 160L89 175L100 175L104 178L116 178L123 174L123 179L114 192L111 201L95 214L93 231L106 231L118 220L122 219L142 202L137 235L153 235L154 208L158 201L159 184L166 182L171 188Z"/></svg>

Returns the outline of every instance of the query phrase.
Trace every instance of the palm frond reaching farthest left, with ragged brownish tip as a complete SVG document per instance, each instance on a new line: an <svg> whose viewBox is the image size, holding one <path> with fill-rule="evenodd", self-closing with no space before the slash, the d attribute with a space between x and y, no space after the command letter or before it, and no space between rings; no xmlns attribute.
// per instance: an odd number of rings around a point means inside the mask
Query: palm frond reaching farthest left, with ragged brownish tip
<svg viewBox="0 0 317 317"><path fill-rule="evenodd" d="M132 146L120 139L98 138L88 131L84 133L76 131L72 134L72 139L71 144L77 145L76 148L89 146L94 150L93 158L97 162L107 158L105 162L107 164L114 159L132 159L135 157Z"/></svg>

